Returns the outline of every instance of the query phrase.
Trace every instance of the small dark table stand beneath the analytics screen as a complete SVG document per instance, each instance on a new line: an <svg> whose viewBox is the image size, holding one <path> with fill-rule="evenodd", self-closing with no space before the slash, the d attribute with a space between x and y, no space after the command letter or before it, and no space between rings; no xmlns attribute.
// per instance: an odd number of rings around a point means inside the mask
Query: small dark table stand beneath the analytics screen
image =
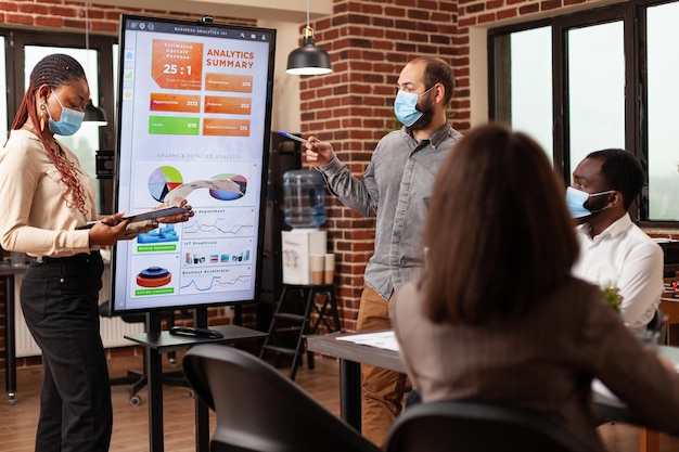
<svg viewBox="0 0 679 452"><path fill-rule="evenodd" d="M196 323L197 324L197 323ZM244 339L266 337L266 333L245 328L238 325L210 326L223 334L218 339L203 337L172 336L168 332L152 332L131 334L126 339L133 340L146 347L146 372L149 378L149 451L163 452L163 363L161 354L172 350L190 348L197 344L228 344ZM360 388L359 388L360 390ZM196 452L209 449L209 416L207 405L195 398L195 450Z"/></svg>

